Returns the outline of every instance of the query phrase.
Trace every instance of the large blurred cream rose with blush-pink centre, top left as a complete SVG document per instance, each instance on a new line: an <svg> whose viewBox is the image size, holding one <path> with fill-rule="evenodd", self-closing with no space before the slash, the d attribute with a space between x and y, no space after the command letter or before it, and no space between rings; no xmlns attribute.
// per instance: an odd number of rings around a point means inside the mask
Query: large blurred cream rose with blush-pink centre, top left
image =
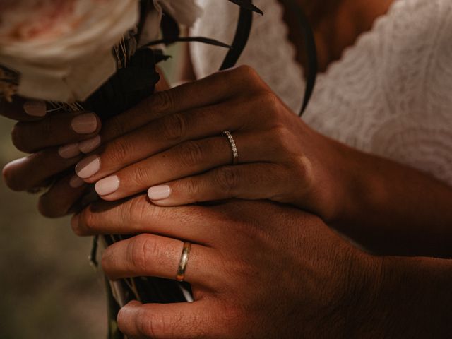
<svg viewBox="0 0 452 339"><path fill-rule="evenodd" d="M138 17L138 0L1 0L0 64L20 74L20 95L83 101L116 71L112 47Z"/></svg>

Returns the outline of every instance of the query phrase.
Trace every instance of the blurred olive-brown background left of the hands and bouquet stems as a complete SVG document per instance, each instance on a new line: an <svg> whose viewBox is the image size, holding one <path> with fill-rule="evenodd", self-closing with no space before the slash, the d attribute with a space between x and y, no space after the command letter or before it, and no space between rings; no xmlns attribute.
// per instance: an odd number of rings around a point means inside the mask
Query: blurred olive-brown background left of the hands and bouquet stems
<svg viewBox="0 0 452 339"><path fill-rule="evenodd" d="M162 64L169 81L175 59ZM11 143L13 124L0 117L1 168L24 156ZM0 180L0 338L105 338L103 279L88 261L92 239L76 237L69 218L42 217L37 197Z"/></svg>

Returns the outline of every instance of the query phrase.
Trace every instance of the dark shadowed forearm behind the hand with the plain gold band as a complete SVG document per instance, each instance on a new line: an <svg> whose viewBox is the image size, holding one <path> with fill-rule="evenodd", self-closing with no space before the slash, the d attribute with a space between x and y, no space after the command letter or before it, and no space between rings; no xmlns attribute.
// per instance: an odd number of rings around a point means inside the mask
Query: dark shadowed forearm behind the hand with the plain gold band
<svg viewBox="0 0 452 339"><path fill-rule="evenodd" d="M374 296L350 338L448 338L452 333L452 261L388 257ZM350 319L354 321L354 319Z"/></svg>

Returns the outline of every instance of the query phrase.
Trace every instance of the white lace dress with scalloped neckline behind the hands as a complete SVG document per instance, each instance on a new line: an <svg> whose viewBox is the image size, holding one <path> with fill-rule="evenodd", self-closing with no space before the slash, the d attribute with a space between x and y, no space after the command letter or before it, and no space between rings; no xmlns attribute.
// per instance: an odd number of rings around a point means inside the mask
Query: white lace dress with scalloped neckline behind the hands
<svg viewBox="0 0 452 339"><path fill-rule="evenodd" d="M198 0L204 15L193 35L231 42L237 6ZM302 68L287 39L277 0L256 0L249 64L299 112ZM198 77L218 70L225 51L192 44ZM395 0L386 15L319 75L303 117L312 128L367 153L428 172L452 185L452 1Z"/></svg>

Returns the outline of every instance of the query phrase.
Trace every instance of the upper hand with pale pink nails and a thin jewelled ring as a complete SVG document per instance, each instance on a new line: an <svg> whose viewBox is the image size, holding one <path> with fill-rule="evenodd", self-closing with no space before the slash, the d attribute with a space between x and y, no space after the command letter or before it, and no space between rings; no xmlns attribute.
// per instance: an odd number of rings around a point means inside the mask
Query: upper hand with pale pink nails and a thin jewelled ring
<svg viewBox="0 0 452 339"><path fill-rule="evenodd" d="M107 201L150 187L160 206L267 198L330 220L346 200L345 146L309 129L247 66L157 93L124 114L122 132L127 116L149 118L76 167Z"/></svg>

